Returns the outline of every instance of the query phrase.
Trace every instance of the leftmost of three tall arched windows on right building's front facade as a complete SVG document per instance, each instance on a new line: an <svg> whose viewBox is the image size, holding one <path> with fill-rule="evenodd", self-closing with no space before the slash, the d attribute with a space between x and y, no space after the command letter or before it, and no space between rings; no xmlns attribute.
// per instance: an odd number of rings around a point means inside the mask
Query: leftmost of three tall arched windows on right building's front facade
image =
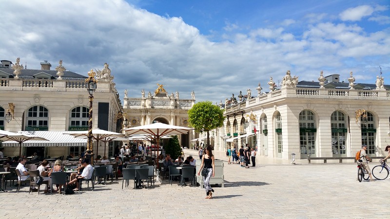
<svg viewBox="0 0 390 219"><path fill-rule="evenodd" d="M299 139L301 155L315 154L315 119L310 110L299 113ZM306 157L303 157L306 158Z"/></svg>

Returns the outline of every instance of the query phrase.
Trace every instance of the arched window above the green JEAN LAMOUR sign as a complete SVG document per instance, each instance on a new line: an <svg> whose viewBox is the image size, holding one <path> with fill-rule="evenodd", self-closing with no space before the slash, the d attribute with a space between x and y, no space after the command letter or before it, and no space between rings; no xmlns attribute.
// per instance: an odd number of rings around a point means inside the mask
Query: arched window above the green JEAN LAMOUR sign
<svg viewBox="0 0 390 219"><path fill-rule="evenodd" d="M71 110L69 117L69 130L88 130L89 109L86 107L75 107Z"/></svg>

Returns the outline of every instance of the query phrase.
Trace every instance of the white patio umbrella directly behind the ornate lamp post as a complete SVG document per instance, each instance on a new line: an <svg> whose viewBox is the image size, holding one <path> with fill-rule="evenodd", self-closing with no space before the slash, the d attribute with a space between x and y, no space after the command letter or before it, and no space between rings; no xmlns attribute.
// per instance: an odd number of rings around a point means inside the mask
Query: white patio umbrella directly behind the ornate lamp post
<svg viewBox="0 0 390 219"><path fill-rule="evenodd" d="M63 134L68 134L75 136L77 138L88 138L88 130L85 131L72 131L72 132L64 132ZM106 131L103 129L92 129L92 139L97 141L96 151L99 149L99 141L104 142L104 156L106 156L106 144L107 142L117 140L117 141L128 141L126 136L121 133ZM98 158L97 158L98 159Z"/></svg>

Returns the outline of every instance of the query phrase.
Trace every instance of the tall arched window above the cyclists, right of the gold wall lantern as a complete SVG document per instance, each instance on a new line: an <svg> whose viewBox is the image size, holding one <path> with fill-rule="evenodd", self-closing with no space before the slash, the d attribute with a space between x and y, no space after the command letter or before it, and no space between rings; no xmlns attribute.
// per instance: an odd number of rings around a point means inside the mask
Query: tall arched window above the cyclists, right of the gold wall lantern
<svg viewBox="0 0 390 219"><path fill-rule="evenodd" d="M367 114L367 125L361 123L362 129L362 145L367 145L367 153L369 155L375 154L375 118L374 115L370 112Z"/></svg>

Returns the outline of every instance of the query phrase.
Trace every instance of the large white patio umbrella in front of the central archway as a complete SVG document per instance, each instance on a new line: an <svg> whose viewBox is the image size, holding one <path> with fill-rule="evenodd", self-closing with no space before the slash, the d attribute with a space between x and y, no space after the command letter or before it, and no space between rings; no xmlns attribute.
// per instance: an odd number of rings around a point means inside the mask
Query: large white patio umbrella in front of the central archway
<svg viewBox="0 0 390 219"><path fill-rule="evenodd" d="M157 146L159 144L160 138L166 135L177 135L177 134L187 134L188 131L193 128L173 126L164 123L153 123L145 126L137 126L132 128L122 129L125 131L126 135L134 134L149 134L156 137ZM158 150L157 150L158 156Z"/></svg>

